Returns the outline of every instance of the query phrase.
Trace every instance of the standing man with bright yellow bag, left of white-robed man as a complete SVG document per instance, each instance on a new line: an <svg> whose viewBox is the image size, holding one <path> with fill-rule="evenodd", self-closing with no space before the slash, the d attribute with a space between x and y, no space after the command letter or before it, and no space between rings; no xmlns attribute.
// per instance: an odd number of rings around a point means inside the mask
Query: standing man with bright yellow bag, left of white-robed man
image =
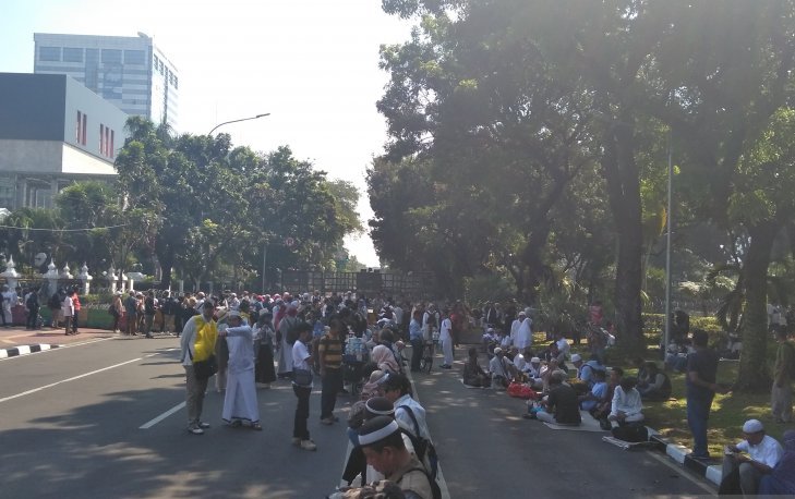
<svg viewBox="0 0 795 499"><path fill-rule="evenodd" d="M135 296L131 296L135 300ZM180 337L182 366L185 369L185 407L188 410L188 431L192 435L203 435L209 424L203 423L202 407L204 393L207 391L209 378L200 378L193 368L194 362L206 361L215 350L218 339L218 329L213 313L213 302L207 301L202 306L202 314L191 317L182 329Z"/></svg>

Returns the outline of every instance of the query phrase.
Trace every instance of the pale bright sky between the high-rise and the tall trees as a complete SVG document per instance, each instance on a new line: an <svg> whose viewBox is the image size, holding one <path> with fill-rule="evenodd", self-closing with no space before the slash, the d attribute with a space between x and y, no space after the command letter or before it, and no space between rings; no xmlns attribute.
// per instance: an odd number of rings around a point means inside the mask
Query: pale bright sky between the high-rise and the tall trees
<svg viewBox="0 0 795 499"><path fill-rule="evenodd" d="M177 66L179 132L206 134L269 112L216 133L260 151L287 145L329 178L353 182L366 228L365 169L387 138L375 109L388 80L378 48L407 40L409 23L386 15L380 0L4 0L0 72L33 72L34 33L138 32ZM346 246L378 266L366 234Z"/></svg>

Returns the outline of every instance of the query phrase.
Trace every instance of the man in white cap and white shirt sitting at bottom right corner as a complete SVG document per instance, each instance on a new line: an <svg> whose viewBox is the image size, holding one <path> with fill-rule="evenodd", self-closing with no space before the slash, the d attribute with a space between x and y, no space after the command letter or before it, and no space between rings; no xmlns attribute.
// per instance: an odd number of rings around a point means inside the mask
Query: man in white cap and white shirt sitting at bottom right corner
<svg viewBox="0 0 795 499"><path fill-rule="evenodd" d="M764 426L759 419L746 421L743 436L745 440L742 442L726 446L719 492L752 497L757 495L762 476L772 473L781 461L784 449L778 440L764 434Z"/></svg>

